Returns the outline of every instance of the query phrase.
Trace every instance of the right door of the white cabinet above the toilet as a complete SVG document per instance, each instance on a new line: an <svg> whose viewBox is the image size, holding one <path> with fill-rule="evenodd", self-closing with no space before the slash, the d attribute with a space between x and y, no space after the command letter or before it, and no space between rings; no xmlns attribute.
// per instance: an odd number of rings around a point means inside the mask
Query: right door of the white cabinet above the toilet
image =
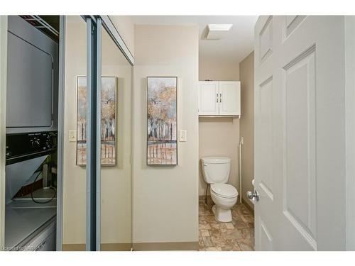
<svg viewBox="0 0 355 266"><path fill-rule="evenodd" d="M241 82L219 82L219 115L241 114Z"/></svg>

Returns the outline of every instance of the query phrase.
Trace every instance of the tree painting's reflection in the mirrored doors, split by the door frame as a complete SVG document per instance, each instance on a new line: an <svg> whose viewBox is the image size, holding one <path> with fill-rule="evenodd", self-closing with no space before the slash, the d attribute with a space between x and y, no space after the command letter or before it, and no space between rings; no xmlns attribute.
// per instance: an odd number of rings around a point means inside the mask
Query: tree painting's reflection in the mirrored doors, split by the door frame
<svg viewBox="0 0 355 266"><path fill-rule="evenodd" d="M116 165L116 77L102 77L101 164ZM87 77L77 77L77 165L87 163Z"/></svg>

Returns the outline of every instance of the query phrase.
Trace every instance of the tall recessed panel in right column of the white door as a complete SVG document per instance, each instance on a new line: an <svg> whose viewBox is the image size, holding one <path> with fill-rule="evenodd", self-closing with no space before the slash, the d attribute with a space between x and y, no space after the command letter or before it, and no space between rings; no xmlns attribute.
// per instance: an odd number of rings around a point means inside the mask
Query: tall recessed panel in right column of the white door
<svg viewBox="0 0 355 266"><path fill-rule="evenodd" d="M316 235L315 47L284 67L284 214L312 249Z"/></svg>

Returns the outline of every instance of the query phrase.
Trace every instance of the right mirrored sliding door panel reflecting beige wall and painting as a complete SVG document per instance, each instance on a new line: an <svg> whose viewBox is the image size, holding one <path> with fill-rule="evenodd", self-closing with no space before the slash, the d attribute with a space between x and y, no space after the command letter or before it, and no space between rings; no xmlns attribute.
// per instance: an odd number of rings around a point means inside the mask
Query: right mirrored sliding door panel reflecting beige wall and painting
<svg viewBox="0 0 355 266"><path fill-rule="evenodd" d="M102 28L101 250L131 250L131 68Z"/></svg>

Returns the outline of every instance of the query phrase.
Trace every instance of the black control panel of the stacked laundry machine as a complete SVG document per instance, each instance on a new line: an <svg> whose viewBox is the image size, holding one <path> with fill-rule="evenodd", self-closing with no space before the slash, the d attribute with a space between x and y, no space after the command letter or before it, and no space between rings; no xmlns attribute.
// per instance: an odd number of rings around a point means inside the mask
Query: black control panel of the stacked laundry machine
<svg viewBox="0 0 355 266"><path fill-rule="evenodd" d="M6 134L6 165L55 153L57 131Z"/></svg>

